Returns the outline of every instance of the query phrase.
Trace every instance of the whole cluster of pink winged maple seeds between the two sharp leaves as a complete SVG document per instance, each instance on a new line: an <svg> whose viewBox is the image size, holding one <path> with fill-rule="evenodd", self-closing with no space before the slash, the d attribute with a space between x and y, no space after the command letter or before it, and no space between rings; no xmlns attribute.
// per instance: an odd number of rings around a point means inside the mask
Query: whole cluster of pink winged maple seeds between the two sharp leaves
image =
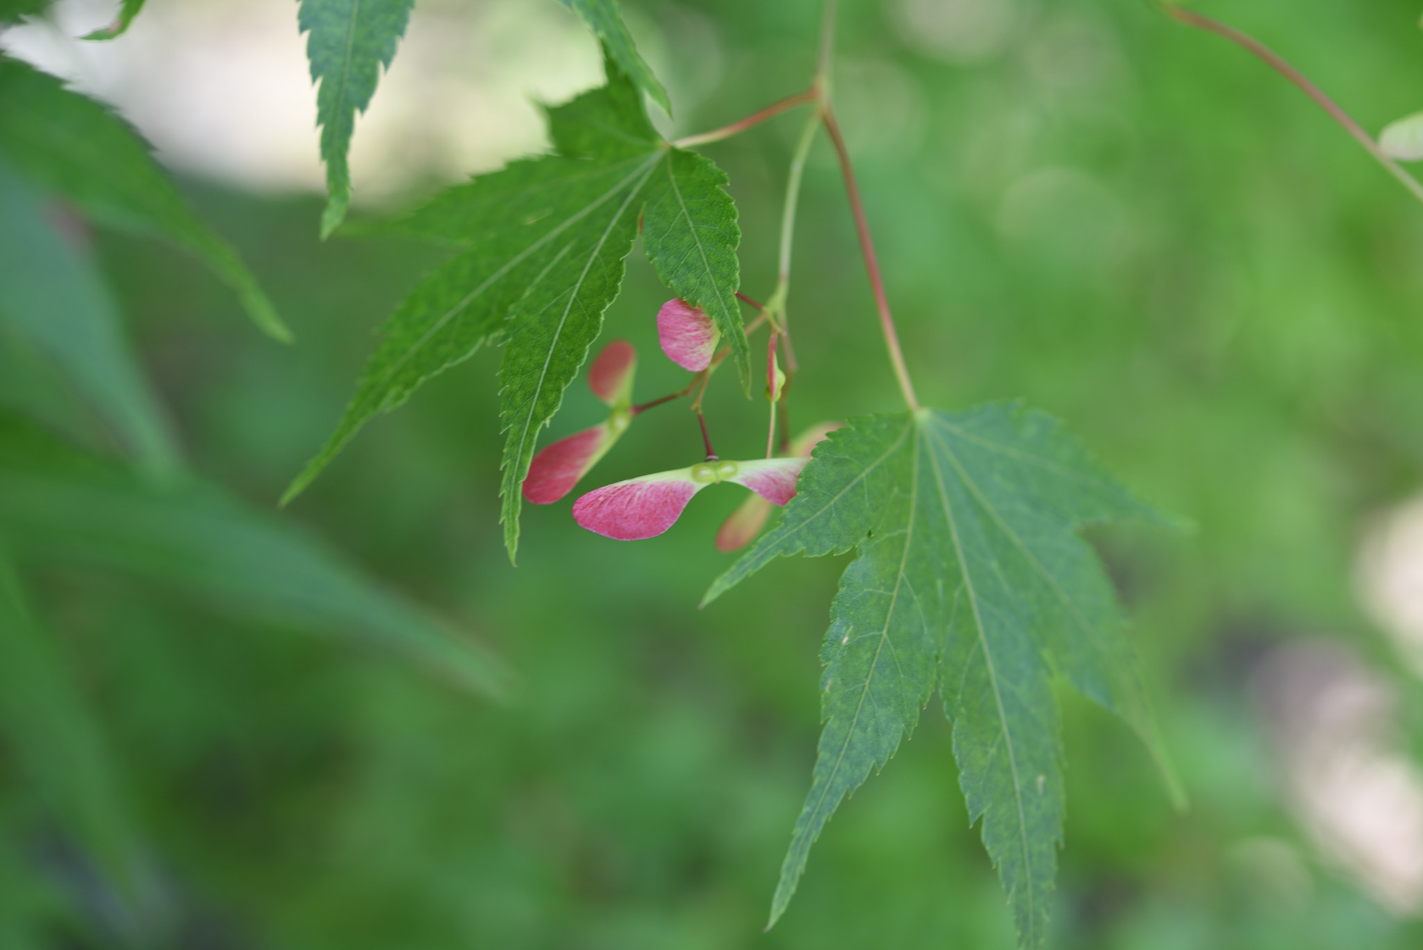
<svg viewBox="0 0 1423 950"><path fill-rule="evenodd" d="M657 312L662 350L683 369L703 375L714 367L720 336L712 318L686 301L667 301ZM566 496L608 454L640 412L672 399L635 406L632 387L636 369L638 353L626 340L613 340L602 349L588 370L588 386L608 404L608 419L565 436L534 456L524 481L528 501L551 504ZM697 382L693 380L693 385ZM704 376L700 382L706 382ZM773 386L774 382L773 377ZM689 392L692 386L676 395ZM697 491L734 481L754 496L731 513L716 541L723 551L736 550L756 537L773 504L784 506L795 496L795 480L810 461L810 450L837 427L822 423L810 429L793 443L791 454L780 459L733 461L717 459L709 446L706 460L686 469L639 476L589 491L573 503L573 520L589 531L620 541L650 538L670 528Z"/></svg>

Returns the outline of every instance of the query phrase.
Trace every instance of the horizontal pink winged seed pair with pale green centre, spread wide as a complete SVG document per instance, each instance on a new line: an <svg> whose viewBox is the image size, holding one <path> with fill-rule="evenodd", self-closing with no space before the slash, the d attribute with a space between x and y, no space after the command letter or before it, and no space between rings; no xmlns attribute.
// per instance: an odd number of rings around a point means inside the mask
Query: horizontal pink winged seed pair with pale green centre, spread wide
<svg viewBox="0 0 1423 950"><path fill-rule="evenodd" d="M702 489L719 481L746 486L771 504L795 497L795 479L810 459L713 459L689 469L659 471L595 489L573 503L573 520L589 531L619 541L662 534L682 517Z"/></svg>

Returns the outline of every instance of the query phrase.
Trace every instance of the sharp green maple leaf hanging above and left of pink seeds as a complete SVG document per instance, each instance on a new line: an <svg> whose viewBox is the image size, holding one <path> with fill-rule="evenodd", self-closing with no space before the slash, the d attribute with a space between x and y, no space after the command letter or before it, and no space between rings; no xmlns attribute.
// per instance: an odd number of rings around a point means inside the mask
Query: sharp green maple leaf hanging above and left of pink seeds
<svg viewBox="0 0 1423 950"><path fill-rule="evenodd" d="M394 225L458 251L396 309L336 432L283 501L373 414L398 406L425 377L482 343L499 340L502 521L514 557L519 486L538 433L602 330L639 221L657 276L716 320L743 382L750 379L736 303L741 232L726 174L662 141L642 94L612 58L606 67L608 85L549 110L556 154L480 175Z"/></svg>

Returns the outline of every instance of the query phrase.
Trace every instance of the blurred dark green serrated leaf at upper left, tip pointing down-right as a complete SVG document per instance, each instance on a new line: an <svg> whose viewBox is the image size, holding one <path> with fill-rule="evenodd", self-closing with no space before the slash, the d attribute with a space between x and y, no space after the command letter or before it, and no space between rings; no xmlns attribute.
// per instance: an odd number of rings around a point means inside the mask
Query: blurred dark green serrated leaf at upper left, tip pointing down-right
<svg viewBox="0 0 1423 950"><path fill-rule="evenodd" d="M148 144L102 104L0 57L0 154L94 218L196 254L236 292L258 326L279 340L292 339L236 251L194 215Z"/></svg>

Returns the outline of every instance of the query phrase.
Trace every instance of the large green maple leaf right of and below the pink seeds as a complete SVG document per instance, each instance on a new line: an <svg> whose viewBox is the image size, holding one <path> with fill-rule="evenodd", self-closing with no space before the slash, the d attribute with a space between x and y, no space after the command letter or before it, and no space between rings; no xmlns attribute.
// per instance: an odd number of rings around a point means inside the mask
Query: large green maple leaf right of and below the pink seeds
<svg viewBox="0 0 1423 950"><path fill-rule="evenodd" d="M938 688L969 819L983 819L1020 944L1042 946L1063 825L1053 678L1123 716L1165 763L1111 585L1074 530L1160 516L1049 417L1003 404L854 420L797 489L706 597L778 555L858 548L831 605L825 728L771 922L825 820Z"/></svg>

